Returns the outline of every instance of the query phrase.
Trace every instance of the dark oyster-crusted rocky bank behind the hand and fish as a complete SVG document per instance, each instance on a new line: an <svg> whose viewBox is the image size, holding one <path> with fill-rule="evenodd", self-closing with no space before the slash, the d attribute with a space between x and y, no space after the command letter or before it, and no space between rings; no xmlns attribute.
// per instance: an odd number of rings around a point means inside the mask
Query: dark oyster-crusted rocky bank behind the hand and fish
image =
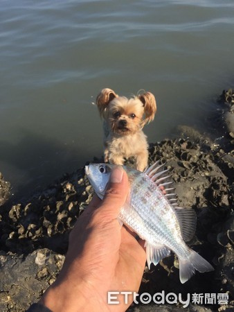
<svg viewBox="0 0 234 312"><path fill-rule="evenodd" d="M215 267L179 281L172 254L145 267L139 293L227 293L228 304L132 305L129 311L233 311L234 309L234 96L223 92L213 121L215 137L179 127L179 139L150 144L150 164L166 162L183 207L197 213L196 236L188 243ZM98 159L94 159L98 162ZM26 311L53 283L62 268L69 232L88 205L92 189L84 168L54 182L28 202L10 206L10 185L0 175L0 311ZM78 238L79 241L79 238ZM134 263L133 263L134 265Z"/></svg>

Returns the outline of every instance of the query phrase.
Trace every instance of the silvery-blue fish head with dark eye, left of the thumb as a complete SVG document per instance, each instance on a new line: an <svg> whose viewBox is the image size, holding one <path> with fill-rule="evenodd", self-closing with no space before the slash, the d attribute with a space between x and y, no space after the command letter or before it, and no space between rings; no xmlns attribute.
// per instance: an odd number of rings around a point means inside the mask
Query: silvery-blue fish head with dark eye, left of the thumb
<svg viewBox="0 0 234 312"><path fill-rule="evenodd" d="M105 194L112 167L109 164L89 164L85 166L85 173L89 182L101 199Z"/></svg>

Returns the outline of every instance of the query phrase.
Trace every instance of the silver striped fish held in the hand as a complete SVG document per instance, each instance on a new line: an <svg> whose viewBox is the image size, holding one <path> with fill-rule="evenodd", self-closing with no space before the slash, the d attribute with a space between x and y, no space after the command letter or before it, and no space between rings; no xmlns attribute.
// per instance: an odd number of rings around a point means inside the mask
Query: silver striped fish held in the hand
<svg viewBox="0 0 234 312"><path fill-rule="evenodd" d="M195 234L196 214L193 209L179 207L165 164L156 162L145 171L123 166L129 179L129 194L118 219L145 241L147 266L156 266L170 252L179 259L179 279L185 283L199 272L214 270L206 259L186 244ZM89 164L85 173L100 199L114 164Z"/></svg>

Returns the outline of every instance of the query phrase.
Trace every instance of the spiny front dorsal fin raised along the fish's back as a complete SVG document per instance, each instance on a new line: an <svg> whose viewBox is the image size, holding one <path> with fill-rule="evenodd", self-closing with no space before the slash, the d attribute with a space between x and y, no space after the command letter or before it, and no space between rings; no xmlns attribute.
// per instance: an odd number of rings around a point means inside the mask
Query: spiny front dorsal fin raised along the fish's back
<svg viewBox="0 0 234 312"><path fill-rule="evenodd" d="M165 164L155 162L149 168L145 169L145 174L159 187L162 193L168 198L173 207L178 207L177 195L174 193L174 182L170 175L167 175L168 169L164 170Z"/></svg>

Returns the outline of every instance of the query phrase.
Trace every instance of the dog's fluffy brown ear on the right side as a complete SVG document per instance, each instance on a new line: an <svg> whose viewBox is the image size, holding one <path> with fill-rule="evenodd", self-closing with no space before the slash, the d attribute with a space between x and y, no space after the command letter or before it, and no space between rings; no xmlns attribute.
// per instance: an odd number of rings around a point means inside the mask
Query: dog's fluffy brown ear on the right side
<svg viewBox="0 0 234 312"><path fill-rule="evenodd" d="M138 98L144 106L145 118L142 121L142 125L145 125L145 123L150 123L150 121L154 120L154 115L156 114L156 101L154 94L151 92L140 94L138 95Z"/></svg>

